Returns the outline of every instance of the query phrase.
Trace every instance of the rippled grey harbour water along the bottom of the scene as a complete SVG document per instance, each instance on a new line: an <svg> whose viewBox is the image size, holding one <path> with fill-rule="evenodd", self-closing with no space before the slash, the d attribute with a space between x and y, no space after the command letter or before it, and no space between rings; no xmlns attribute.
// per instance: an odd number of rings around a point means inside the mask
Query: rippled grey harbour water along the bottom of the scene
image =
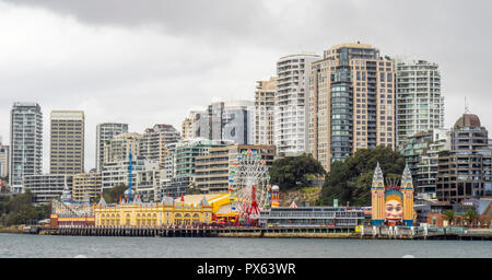
<svg viewBox="0 0 492 280"><path fill-rule="evenodd" d="M1 258L492 258L490 241L0 234Z"/></svg>

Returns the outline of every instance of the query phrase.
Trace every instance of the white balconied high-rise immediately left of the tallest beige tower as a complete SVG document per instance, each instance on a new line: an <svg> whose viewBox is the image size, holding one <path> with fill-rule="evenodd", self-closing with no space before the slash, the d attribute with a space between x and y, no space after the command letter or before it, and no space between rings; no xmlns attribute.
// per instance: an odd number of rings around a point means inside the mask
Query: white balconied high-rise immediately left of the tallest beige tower
<svg viewBox="0 0 492 280"><path fill-rule="evenodd" d="M311 63L320 57L301 52L277 61L273 138L279 154L306 152L306 97Z"/></svg>

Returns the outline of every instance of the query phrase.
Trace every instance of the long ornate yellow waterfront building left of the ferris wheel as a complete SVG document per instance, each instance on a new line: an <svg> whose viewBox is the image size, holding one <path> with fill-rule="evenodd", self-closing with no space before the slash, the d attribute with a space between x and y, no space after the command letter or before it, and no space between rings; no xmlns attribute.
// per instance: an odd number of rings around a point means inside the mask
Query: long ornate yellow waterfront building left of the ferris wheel
<svg viewBox="0 0 492 280"><path fill-rule="evenodd" d="M137 197L131 202L106 203L101 197L97 205L52 201L51 226L184 226L234 221L230 194L187 195L160 202L142 202Z"/></svg>

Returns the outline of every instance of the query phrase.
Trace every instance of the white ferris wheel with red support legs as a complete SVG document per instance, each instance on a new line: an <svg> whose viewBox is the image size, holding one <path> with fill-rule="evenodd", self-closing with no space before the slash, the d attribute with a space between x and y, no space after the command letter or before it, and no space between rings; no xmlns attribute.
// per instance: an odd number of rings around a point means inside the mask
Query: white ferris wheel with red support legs
<svg viewBox="0 0 492 280"><path fill-rule="evenodd" d="M256 224L259 211L270 207L268 166L255 150L237 155L230 168L229 191L236 224Z"/></svg>

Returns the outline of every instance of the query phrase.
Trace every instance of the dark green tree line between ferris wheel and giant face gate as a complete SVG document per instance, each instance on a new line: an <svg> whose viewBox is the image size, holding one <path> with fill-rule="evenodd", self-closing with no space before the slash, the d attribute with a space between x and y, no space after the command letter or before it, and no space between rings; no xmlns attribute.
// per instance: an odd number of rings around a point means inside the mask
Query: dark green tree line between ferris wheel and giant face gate
<svg viewBox="0 0 492 280"><path fill-rule="evenodd" d="M312 155L278 159L270 167L270 183L285 191L309 186L308 178L325 177L318 206L331 206L333 199L338 199L340 205L370 206L371 185L378 162L386 178L401 178L403 156L390 148L379 145L360 149L344 161L333 162L329 173Z"/></svg>

